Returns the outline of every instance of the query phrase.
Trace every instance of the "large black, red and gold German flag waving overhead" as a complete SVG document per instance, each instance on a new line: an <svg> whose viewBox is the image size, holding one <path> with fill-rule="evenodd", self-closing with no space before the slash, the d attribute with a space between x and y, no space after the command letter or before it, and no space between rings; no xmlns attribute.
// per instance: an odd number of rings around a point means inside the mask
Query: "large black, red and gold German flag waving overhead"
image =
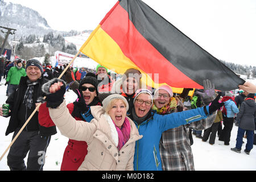
<svg viewBox="0 0 256 182"><path fill-rule="evenodd" d="M152 87L202 89L209 79L228 91L245 82L140 0L118 1L80 51L116 73L137 68Z"/></svg>

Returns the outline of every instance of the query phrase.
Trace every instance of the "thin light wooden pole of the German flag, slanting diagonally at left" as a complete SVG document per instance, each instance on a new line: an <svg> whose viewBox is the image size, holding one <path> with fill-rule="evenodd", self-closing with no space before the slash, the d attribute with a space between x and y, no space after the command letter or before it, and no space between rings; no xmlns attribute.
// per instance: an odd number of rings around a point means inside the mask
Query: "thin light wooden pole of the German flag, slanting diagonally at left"
<svg viewBox="0 0 256 182"><path fill-rule="evenodd" d="M64 75L64 73L67 71L67 69L70 67L70 65L73 63L73 61L76 59L76 57L79 55L80 51L77 52L76 56L71 60L71 62L67 65L67 67L64 69L64 71L60 74L59 79ZM43 98L44 100L46 99L46 96L44 96ZM30 121L30 119L33 117L33 115L35 114L35 112L39 109L41 103L38 104L38 106L36 106L35 110L32 112L32 114L30 115L30 117L27 119L27 121L24 123L24 125L22 126L22 128L19 130L19 132L16 134L16 136L14 137L14 139L11 141L11 143L9 144L9 146L6 148L5 152L3 152L3 155L0 158L0 161L2 160L3 156L5 156L6 152L9 150L9 148L13 145L13 143L15 142L15 140L19 137L19 134L23 131L24 127L27 126L27 123Z"/></svg>

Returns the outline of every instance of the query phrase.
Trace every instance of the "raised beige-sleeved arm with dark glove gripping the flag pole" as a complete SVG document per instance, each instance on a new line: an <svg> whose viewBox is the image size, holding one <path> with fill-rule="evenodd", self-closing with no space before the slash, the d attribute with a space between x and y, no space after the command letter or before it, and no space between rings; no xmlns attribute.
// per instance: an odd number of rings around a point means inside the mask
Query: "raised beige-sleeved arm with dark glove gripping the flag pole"
<svg viewBox="0 0 256 182"><path fill-rule="evenodd" d="M65 82L54 78L42 86L42 90L46 93L46 106L49 107L49 115L65 137L75 140L88 142L96 131L96 121L83 122L76 121L69 113L64 101Z"/></svg>

